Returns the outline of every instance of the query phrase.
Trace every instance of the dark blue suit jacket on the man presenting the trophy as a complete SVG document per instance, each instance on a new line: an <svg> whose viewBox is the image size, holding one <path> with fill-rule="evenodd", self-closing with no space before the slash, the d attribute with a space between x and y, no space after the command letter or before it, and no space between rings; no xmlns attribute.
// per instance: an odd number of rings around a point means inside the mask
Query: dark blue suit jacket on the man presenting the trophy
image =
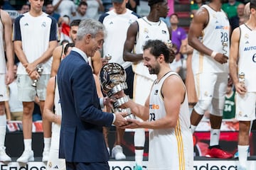
<svg viewBox="0 0 256 170"><path fill-rule="evenodd" d="M66 162L106 162L109 154L102 126L114 116L102 112L92 69L75 51L60 63L58 89L62 108L60 158Z"/></svg>

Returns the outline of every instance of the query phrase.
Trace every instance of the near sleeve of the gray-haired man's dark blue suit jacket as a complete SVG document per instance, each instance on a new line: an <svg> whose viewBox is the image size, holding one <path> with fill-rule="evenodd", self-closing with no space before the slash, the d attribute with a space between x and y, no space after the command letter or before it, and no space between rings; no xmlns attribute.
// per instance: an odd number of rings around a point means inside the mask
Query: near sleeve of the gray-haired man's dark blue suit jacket
<svg viewBox="0 0 256 170"><path fill-rule="evenodd" d="M82 121L102 126L112 125L114 116L100 109L95 80L88 64L82 64L76 69L73 79L73 95L78 117Z"/></svg>

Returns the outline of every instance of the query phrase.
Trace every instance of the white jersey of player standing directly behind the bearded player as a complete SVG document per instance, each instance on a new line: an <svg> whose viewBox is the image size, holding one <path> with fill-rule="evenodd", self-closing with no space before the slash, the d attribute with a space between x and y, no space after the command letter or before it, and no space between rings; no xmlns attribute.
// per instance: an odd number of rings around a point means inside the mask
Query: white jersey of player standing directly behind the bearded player
<svg viewBox="0 0 256 170"><path fill-rule="evenodd" d="M134 47L136 54L143 53L143 45L145 45L147 40L162 40L163 42L170 40L169 29L164 21L151 22L144 16L143 18L139 18L137 23L139 25L139 31L137 33L137 43ZM141 62L134 62L132 69L135 74L139 74L153 81L156 79L155 74L149 74L149 69L144 66L143 60Z"/></svg>

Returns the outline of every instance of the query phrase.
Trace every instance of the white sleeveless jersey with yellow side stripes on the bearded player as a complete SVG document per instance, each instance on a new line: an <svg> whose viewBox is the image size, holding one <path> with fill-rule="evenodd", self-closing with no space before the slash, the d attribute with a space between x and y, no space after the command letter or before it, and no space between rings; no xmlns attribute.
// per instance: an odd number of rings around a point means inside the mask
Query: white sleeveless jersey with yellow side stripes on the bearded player
<svg viewBox="0 0 256 170"><path fill-rule="evenodd" d="M155 81L152 86L149 98L149 121L166 117L161 88L165 79L170 76L178 76L178 74L169 72L158 83ZM186 94L181 103L175 128L149 130L149 170L193 169L193 137L189 129L190 125Z"/></svg>

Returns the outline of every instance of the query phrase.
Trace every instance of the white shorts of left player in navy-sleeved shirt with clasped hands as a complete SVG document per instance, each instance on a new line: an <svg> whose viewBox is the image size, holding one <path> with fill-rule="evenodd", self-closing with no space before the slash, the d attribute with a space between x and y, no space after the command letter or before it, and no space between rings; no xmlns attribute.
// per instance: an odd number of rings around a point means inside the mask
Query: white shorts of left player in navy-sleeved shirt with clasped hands
<svg viewBox="0 0 256 170"><path fill-rule="evenodd" d="M46 86L50 79L50 74L43 74L36 83L36 87L32 86L33 80L27 74L18 74L18 100L34 101L36 95L40 101L46 100Z"/></svg>

